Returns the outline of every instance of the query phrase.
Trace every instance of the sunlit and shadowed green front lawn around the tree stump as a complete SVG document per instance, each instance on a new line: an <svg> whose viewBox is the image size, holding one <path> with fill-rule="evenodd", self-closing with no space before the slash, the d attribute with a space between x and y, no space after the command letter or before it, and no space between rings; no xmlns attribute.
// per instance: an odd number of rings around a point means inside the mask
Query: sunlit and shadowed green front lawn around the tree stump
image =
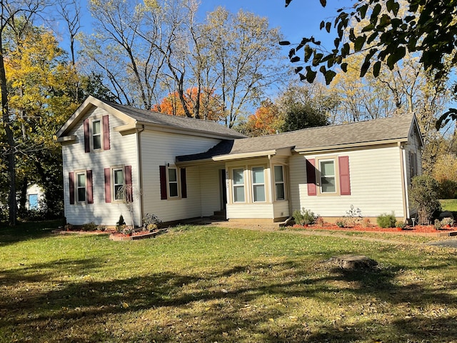
<svg viewBox="0 0 457 343"><path fill-rule="evenodd" d="M0 229L0 342L455 341L456 250L366 238ZM326 262L341 254L380 267Z"/></svg>

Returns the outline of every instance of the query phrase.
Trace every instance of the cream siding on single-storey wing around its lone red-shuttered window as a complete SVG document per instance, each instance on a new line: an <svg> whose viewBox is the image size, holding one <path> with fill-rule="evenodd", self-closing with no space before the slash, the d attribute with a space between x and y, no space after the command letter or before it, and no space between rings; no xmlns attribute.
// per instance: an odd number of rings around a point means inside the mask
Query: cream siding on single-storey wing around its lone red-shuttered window
<svg viewBox="0 0 457 343"><path fill-rule="evenodd" d="M396 144L339 153L349 158L351 195L308 196L305 158L320 160L336 155L338 154L332 152L291 156L289 169L292 211L304 207L321 217L342 217L353 205L361 209L363 217L377 217L391 212L396 217L403 217L401 154Z"/></svg>

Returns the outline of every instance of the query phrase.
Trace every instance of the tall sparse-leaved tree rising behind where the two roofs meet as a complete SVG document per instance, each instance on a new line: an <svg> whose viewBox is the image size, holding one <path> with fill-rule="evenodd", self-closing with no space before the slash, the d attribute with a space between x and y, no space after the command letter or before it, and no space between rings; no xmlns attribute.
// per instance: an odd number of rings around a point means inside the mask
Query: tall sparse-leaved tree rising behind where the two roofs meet
<svg viewBox="0 0 457 343"><path fill-rule="evenodd" d="M233 15L222 7L208 14L204 31L211 44L212 88L221 94L231 127L246 105L259 103L268 87L284 79L277 45L281 34L265 18L242 10Z"/></svg>

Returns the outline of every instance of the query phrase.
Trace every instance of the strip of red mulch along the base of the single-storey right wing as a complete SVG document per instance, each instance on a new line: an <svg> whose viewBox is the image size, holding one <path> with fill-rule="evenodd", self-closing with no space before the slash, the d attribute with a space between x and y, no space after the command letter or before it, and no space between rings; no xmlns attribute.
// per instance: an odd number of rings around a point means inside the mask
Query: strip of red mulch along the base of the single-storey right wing
<svg viewBox="0 0 457 343"><path fill-rule="evenodd" d="M338 227L336 224L324 224L323 227L318 225L309 225L303 227L303 225L293 225L296 229L316 229L316 230L338 230L338 231L365 231L365 232L411 232L411 233L438 233L438 232L453 232L457 231L457 227L443 227L440 230L435 229L433 225L416 225L405 227L404 229L398 229L396 227L382 228L370 225L369 227L363 227L362 225L355 225L353 227Z"/></svg>

